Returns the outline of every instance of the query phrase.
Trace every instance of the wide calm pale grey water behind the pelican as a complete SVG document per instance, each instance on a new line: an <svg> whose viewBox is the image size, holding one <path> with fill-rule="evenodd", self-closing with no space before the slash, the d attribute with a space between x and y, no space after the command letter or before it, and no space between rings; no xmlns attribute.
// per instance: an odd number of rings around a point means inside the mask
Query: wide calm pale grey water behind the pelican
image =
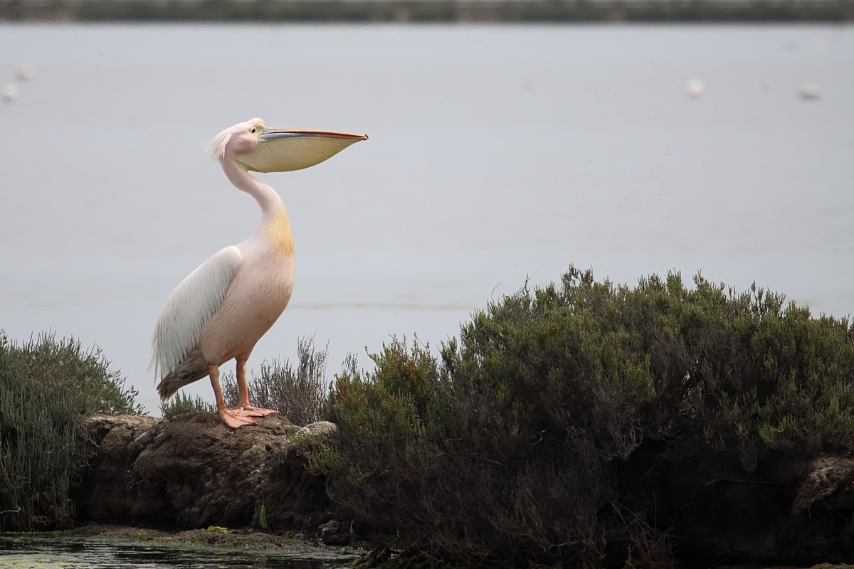
<svg viewBox="0 0 854 569"><path fill-rule="evenodd" d="M100 345L151 411L164 299L257 222L202 154L252 117L371 136L268 175L297 282L254 369L301 336L330 375L392 334L436 345L570 263L854 311L852 26L3 24L5 83L0 328Z"/></svg>

